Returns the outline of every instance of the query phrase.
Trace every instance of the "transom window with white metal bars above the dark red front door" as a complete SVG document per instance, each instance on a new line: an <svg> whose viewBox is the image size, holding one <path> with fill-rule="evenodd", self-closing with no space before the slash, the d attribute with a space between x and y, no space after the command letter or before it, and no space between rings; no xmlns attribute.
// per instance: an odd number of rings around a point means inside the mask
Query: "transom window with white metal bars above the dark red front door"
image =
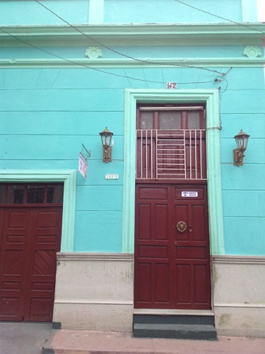
<svg viewBox="0 0 265 354"><path fill-rule="evenodd" d="M200 105L140 104L136 178L205 180L205 120Z"/></svg>

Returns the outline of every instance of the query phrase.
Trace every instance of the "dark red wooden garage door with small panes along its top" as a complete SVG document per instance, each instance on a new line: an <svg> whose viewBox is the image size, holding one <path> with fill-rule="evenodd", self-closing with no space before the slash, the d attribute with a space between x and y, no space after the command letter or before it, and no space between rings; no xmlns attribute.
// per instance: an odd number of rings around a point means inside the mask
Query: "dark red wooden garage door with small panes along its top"
<svg viewBox="0 0 265 354"><path fill-rule="evenodd" d="M52 321L63 185L0 186L0 319Z"/></svg>

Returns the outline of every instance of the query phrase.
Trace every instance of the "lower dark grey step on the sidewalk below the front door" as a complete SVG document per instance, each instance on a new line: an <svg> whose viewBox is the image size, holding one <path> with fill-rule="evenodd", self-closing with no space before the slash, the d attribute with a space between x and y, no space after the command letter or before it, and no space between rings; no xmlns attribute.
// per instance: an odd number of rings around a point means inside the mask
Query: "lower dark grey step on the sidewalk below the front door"
<svg viewBox="0 0 265 354"><path fill-rule="evenodd" d="M217 340L210 324L139 324L133 326L134 337Z"/></svg>

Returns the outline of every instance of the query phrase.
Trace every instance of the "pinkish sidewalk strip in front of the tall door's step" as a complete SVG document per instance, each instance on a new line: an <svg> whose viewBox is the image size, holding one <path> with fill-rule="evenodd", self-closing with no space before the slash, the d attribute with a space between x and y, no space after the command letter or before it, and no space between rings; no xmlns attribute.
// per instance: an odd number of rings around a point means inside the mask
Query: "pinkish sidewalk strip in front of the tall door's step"
<svg viewBox="0 0 265 354"><path fill-rule="evenodd" d="M264 354L265 338L218 341L134 338L132 333L52 330L42 354Z"/></svg>

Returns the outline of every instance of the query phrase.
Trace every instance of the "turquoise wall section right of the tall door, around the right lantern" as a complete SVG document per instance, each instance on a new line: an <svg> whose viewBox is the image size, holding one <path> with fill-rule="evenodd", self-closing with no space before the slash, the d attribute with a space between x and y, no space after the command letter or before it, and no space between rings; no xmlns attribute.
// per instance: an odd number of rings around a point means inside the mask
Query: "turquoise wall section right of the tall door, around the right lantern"
<svg viewBox="0 0 265 354"><path fill-rule="evenodd" d="M257 68L233 69L222 95L222 187L226 254L265 254L264 76ZM235 91L239 90L239 91ZM233 136L251 135L244 166L231 165Z"/></svg>

